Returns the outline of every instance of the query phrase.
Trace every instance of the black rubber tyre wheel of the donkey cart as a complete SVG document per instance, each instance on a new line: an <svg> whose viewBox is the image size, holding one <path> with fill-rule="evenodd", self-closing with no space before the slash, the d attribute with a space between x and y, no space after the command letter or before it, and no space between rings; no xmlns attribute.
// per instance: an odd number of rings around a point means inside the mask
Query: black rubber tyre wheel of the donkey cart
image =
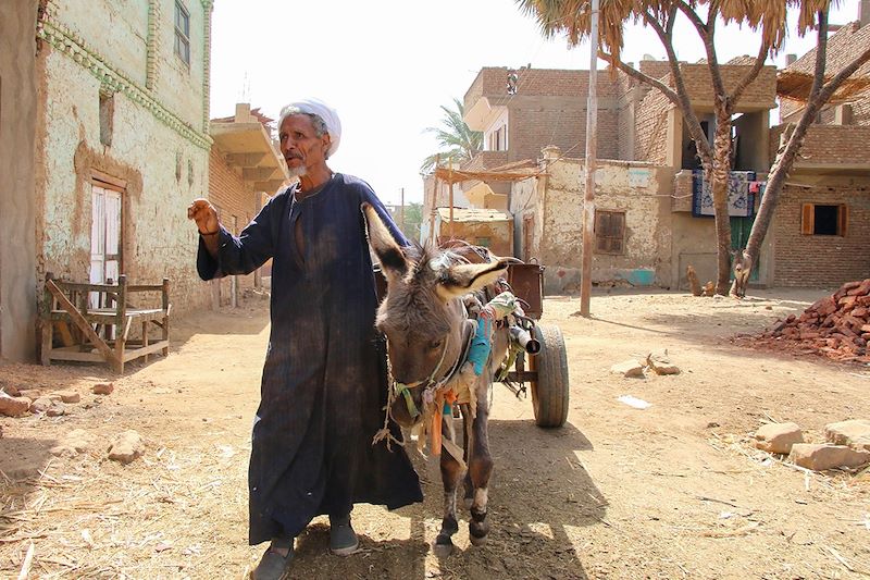
<svg viewBox="0 0 870 580"><path fill-rule="evenodd" d="M568 420L568 357L559 326L535 325L540 353L529 357L532 380L532 406L538 427L562 427Z"/></svg>

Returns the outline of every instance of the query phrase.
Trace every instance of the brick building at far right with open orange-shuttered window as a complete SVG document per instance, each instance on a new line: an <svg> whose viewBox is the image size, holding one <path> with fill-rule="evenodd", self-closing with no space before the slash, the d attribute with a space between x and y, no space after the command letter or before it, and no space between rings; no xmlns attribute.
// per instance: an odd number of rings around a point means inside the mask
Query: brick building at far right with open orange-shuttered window
<svg viewBox="0 0 870 580"><path fill-rule="evenodd" d="M870 45L870 1L859 20L828 40L826 75L836 74ZM809 75L816 50L784 75ZM772 283L828 285L870 276L870 63L865 63L818 115L783 189L772 226ZM787 95L786 95L787 97ZM783 98L780 125L770 132L770 156L803 112Z"/></svg>

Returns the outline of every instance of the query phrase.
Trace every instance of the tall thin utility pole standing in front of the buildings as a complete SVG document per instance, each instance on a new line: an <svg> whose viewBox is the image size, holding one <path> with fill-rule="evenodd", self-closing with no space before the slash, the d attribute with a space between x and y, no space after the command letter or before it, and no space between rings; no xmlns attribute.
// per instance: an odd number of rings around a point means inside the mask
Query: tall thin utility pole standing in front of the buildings
<svg viewBox="0 0 870 580"><path fill-rule="evenodd" d="M586 101L586 163L583 196L583 263L580 273L580 314L589 318L592 255L595 250L595 166L598 149L598 3L592 0L589 26L589 97Z"/></svg>

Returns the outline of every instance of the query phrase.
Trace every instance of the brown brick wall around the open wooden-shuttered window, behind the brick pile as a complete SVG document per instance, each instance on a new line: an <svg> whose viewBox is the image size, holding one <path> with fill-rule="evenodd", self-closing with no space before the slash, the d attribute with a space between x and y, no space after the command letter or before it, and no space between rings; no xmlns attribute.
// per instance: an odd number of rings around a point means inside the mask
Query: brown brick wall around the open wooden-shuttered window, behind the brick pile
<svg viewBox="0 0 870 580"><path fill-rule="evenodd" d="M803 203L845 203L845 236L803 235ZM870 275L870 184L786 186L776 208L773 284L775 286L838 286Z"/></svg>

